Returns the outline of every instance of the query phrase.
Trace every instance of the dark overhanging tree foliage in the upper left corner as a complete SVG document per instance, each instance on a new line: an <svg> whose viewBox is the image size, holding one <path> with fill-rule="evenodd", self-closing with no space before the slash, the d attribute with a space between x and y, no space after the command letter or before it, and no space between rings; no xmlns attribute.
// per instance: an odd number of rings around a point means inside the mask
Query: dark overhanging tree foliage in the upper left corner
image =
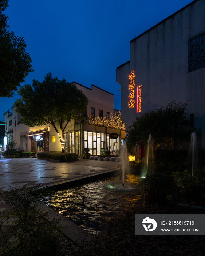
<svg viewBox="0 0 205 256"><path fill-rule="evenodd" d="M24 38L7 30L8 17L2 14L7 7L8 0L0 0L0 97L12 97L17 86L33 72Z"/></svg>

